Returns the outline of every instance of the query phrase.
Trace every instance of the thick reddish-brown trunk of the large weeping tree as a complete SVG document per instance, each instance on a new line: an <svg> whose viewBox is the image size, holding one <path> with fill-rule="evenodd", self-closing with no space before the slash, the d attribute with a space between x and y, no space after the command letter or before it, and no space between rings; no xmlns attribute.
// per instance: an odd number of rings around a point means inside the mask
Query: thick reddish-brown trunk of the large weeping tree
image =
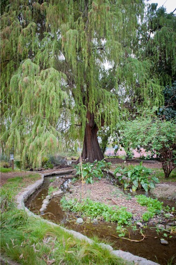
<svg viewBox="0 0 176 265"><path fill-rule="evenodd" d="M86 160L86 162L91 163L95 160L101 161L102 159L104 159L104 156L101 152L97 139L98 127L94 120L94 114L91 114L88 111L86 117L88 119L88 122L86 122L85 127L83 150L81 154L82 161Z"/></svg>

